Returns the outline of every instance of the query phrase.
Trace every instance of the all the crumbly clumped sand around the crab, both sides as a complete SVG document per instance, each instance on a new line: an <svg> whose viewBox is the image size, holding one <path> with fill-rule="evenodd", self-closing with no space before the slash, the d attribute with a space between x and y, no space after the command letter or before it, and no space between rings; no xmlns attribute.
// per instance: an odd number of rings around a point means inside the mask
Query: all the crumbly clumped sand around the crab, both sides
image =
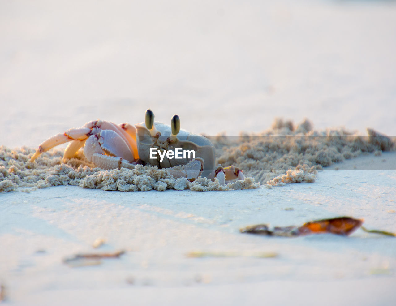
<svg viewBox="0 0 396 306"><path fill-rule="evenodd" d="M294 126L276 120L272 128L259 134L239 137L210 137L216 147L218 163L236 165L244 171L244 181L221 186L207 178L189 182L175 179L164 169L137 165L134 169L111 171L95 167L80 150L75 158L61 163L63 151L50 150L35 162L29 159L33 148L10 149L0 146L0 192L57 185L77 185L83 188L120 191L190 189L195 191L232 190L282 185L291 182L313 182L317 170L334 162L356 157L362 152L393 150L394 141L373 130L369 136L353 135L343 129L312 131L305 120Z"/></svg>

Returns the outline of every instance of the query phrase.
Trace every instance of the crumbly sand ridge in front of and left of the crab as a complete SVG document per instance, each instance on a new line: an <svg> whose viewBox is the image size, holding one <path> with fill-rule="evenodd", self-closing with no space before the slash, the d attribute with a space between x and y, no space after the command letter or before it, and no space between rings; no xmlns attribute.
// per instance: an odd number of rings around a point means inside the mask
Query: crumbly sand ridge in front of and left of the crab
<svg viewBox="0 0 396 306"><path fill-rule="evenodd" d="M103 170L89 163L81 151L67 163L61 163L63 151L60 150L45 152L35 162L30 163L29 159L34 152L32 148L11 150L0 146L0 192L17 189L29 192L36 188L58 185L120 191L208 191L259 187L251 177L224 186L220 185L217 179L212 182L202 177L190 182L186 178L175 179L165 169L147 165L136 165L134 169Z"/></svg>

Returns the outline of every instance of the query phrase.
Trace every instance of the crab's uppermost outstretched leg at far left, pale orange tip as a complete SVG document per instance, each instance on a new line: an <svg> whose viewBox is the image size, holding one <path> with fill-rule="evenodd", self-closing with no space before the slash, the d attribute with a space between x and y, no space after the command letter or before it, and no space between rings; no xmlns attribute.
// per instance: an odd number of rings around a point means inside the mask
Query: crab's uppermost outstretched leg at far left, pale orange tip
<svg viewBox="0 0 396 306"><path fill-rule="evenodd" d="M30 158L30 162L33 162L42 152L46 152L54 146L76 139L85 140L87 139L90 132L91 129L88 127L80 127L78 129L68 129L64 133L59 133L55 136L52 136L40 144L40 146L38 146L38 149L33 154L32 158Z"/></svg>

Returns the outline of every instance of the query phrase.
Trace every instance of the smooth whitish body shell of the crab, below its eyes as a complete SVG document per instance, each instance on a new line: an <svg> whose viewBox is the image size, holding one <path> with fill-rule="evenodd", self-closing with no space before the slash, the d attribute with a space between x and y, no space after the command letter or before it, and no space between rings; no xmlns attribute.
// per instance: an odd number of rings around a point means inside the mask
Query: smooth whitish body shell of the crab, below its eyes
<svg viewBox="0 0 396 306"><path fill-rule="evenodd" d="M208 177L215 170L216 152L215 147L211 141L201 135L191 133L185 129L180 129L177 133L176 140L170 141L172 130L171 126L162 122L154 122L154 126L161 135L151 136L150 131L147 129L145 122L136 124L136 143L139 152L139 158L150 165L156 165L159 168L169 168L176 165L186 165L191 159L183 158L168 159L164 156L164 160L160 163L159 154L157 159L150 158L150 148L156 150L170 150L175 152L175 148L183 148L183 150L194 150L195 159L202 159L204 162L204 169L202 176Z"/></svg>

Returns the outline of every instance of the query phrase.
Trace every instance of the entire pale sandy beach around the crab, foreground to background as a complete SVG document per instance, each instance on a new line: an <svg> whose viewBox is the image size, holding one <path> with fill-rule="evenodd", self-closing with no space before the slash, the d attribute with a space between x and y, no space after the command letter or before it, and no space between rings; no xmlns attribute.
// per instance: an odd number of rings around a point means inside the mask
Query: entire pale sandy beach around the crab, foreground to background
<svg viewBox="0 0 396 306"><path fill-rule="evenodd" d="M394 2L0 7L0 304L394 304L394 237L240 232L339 216L396 232ZM52 135L147 108L212 137L251 189L88 184L80 165L101 172L81 153L61 165L65 145L27 162Z"/></svg>

